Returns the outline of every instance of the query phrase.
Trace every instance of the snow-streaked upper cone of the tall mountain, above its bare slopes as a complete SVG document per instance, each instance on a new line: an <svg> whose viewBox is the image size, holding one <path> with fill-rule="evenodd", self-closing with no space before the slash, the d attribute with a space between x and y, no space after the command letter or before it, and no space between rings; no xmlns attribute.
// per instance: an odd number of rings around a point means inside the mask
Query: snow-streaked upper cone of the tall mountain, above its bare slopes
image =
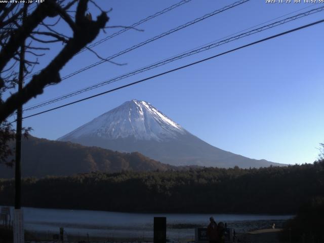
<svg viewBox="0 0 324 243"><path fill-rule="evenodd" d="M131 100L98 116L59 140L83 136L105 139L134 137L136 140L163 141L186 131L146 101Z"/></svg>

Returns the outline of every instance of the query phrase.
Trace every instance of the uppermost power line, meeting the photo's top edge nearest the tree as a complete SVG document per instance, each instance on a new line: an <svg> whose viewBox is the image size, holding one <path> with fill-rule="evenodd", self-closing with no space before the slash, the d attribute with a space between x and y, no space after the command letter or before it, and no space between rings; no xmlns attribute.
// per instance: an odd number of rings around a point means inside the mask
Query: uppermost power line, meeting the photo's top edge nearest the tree
<svg viewBox="0 0 324 243"><path fill-rule="evenodd" d="M142 19L142 20L138 21L138 22L132 24L131 26L127 27L127 28L121 29L121 30L119 30L119 31L117 31L117 32L112 33L111 35L106 36L105 38L100 39L99 41L97 41L97 42L95 42L95 43L89 45L88 48L93 48L93 47L95 47L95 46L97 46L97 45L99 45L99 44L101 44L101 43L103 43L103 42L105 42L105 41L108 41L108 39L111 39L111 38L113 38L113 37L115 37L115 36L117 36L117 35L119 35L119 34L121 34L121 33L124 33L124 32L126 32L126 31L128 31L128 30L130 30L130 29L134 29L136 26L138 26L138 25L140 25L140 24L143 24L143 23L145 23L145 22L147 22L147 21L149 21L149 20L151 20L151 19L153 19L153 18L155 18L155 17L157 17L157 16L159 16L159 15L161 15L161 14L165 14L165 13L167 13L167 12L169 12L169 11L171 11L171 10L173 10L173 9L175 9L175 8L177 8L177 7L181 6L181 5L183 5L183 4L189 3L190 1L192 1L192 0L182 0L182 1L180 1L179 3L174 4L174 5L168 7L168 8L166 8L166 9L164 9L164 10L161 10L161 11L159 11L159 12L156 12L155 14L150 15L150 16L146 17L145 19ZM76 55L78 55L78 54L80 54L80 53L82 53L82 52L84 52L84 51L86 51L86 50L87 50L87 48L83 48L83 49L80 50L78 53L76 53L74 56L76 56ZM29 78L29 77L32 77L32 76L35 75L35 74L40 73L42 70L43 70L43 69L38 70L38 71L36 71L36 72L34 72L34 73L32 73L32 74L26 76L25 79L26 79L26 78Z"/></svg>

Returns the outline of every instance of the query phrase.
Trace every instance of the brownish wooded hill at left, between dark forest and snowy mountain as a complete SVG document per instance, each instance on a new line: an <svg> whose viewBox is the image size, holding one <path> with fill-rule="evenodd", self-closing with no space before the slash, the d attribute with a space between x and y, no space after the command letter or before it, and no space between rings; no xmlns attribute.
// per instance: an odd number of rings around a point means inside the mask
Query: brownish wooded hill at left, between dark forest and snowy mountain
<svg viewBox="0 0 324 243"><path fill-rule="evenodd" d="M140 153L120 153L70 142L51 141L29 136L22 143L22 176L67 176L93 171L153 171L173 167ZM13 178L14 170L0 164L0 178Z"/></svg>

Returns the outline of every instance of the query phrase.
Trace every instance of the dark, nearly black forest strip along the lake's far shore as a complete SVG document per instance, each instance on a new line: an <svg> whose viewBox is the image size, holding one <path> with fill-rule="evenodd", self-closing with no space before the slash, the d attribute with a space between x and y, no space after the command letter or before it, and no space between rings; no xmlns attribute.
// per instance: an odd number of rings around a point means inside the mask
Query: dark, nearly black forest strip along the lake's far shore
<svg viewBox="0 0 324 243"><path fill-rule="evenodd" d="M296 213L324 196L324 160L261 169L90 173L25 179L26 207L124 212ZM0 181L0 205L13 205L14 182Z"/></svg>

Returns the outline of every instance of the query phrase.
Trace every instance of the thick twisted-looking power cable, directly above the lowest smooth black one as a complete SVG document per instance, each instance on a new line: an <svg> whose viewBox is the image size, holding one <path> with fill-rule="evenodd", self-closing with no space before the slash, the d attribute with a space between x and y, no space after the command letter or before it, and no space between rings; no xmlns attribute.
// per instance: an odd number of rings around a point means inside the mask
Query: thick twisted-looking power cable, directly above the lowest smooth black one
<svg viewBox="0 0 324 243"><path fill-rule="evenodd" d="M55 99L52 99L52 100L49 100L49 101L46 101L46 102L43 102L43 103L40 103L40 104L31 106L31 107L28 107L28 108L24 109L24 111L36 109L36 108L39 108L39 107L42 107L42 106L46 106L46 105L49 105L49 104L58 102L58 101L63 100L63 99L70 98L70 97L75 96L75 95L78 95L78 94L82 94L84 92L87 92L87 91L90 91L90 90L93 90L93 89L102 87L104 85L108 85L108 84L117 82L118 80L121 80L121 79L130 77L130 76L136 75L138 73L141 73L141 72L144 72L144 71L148 71L150 69L153 69L153 68L156 68L156 67L159 67L159 66L162 66L162 65L166 65L166 64L168 64L170 62L173 62L173 61L176 61L176 60L179 60L179 59L182 59L182 58L185 58L185 57L188 57L188 56L191 56L191 55L200 53L200 52L208 51L209 49L212 49L212 48L218 47L220 45L224 45L226 43L235 41L236 39L239 39L239 38L242 38L242 37L246 37L246 36L249 36L249 35L252 35L252 34L255 34L255 33L258 33L258 32L261 32L261 31L264 31L264 30L267 30L269 28L273 28L275 26L282 25L282 24L288 23L290 21L293 21L293 20L296 20L296 19L299 19L299 18L308 16L310 14L318 13L318 12L323 11L323 10L324 10L324 6L323 7L320 7L320 8L312 9L310 11L307 11L307 12L304 12L304 13L300 13L300 14L297 14L295 16L292 16L292 17L289 17L289 18L286 18L286 19L283 19L283 20L279 20L279 21L270 23L268 25L264 25L262 27L259 27L259 28L250 30L248 32L244 32L244 33L241 33L241 34L232 36L230 38L224 39L223 41L220 41L220 42L217 42L217 43L212 43L212 44L209 44L209 45L205 45L205 46L199 47L197 49L190 50L188 52L184 52L184 53L182 53L182 54L180 54L178 56L174 56L174 57L169 58L169 59L164 59L163 61L156 62L156 63L151 64L149 66L146 66L146 67L137 69L135 71L132 71L132 72L129 72L129 73L126 73L126 74L123 74L123 75L120 75L120 76L117 76L117 77L108 79L105 82L101 82L101 83L98 83L96 85L93 85L93 86L90 86L90 87L87 87L87 88L84 88L84 89L81 89L81 90L78 90L78 91L75 91L75 92L72 92L72 93L69 93L69 94L60 96L58 98L55 98Z"/></svg>

